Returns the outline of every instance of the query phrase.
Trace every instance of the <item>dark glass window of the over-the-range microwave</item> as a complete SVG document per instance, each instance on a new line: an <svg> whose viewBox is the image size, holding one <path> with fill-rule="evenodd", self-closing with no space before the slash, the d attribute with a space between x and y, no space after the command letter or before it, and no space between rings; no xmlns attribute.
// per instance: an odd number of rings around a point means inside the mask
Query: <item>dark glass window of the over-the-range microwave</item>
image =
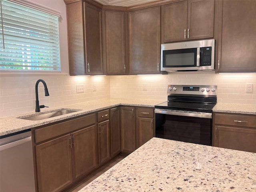
<svg viewBox="0 0 256 192"><path fill-rule="evenodd" d="M163 51L163 67L195 67L196 48Z"/></svg>

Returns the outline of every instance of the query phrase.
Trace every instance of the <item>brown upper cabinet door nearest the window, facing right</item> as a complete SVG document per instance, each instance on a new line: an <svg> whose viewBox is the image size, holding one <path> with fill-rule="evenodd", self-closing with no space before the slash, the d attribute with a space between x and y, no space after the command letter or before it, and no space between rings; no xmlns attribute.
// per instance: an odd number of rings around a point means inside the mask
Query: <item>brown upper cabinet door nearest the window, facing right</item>
<svg viewBox="0 0 256 192"><path fill-rule="evenodd" d="M102 62L101 9L84 2L86 74L104 74Z"/></svg>

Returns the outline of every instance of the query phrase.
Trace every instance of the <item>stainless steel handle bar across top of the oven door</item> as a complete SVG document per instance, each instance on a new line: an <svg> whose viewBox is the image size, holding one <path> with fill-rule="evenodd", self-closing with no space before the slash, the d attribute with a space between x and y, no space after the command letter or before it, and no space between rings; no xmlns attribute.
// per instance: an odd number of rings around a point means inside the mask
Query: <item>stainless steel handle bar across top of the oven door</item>
<svg viewBox="0 0 256 192"><path fill-rule="evenodd" d="M204 112L192 112L192 111L180 111L180 110L167 110L167 109L155 109L155 113L166 115L178 115L187 117L199 117L199 118L212 118L212 113Z"/></svg>

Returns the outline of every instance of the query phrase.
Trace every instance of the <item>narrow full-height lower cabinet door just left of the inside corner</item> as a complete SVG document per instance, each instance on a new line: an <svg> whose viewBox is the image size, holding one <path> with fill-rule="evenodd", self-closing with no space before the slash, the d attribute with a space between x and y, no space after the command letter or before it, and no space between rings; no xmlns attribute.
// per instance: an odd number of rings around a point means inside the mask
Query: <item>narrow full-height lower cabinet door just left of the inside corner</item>
<svg viewBox="0 0 256 192"><path fill-rule="evenodd" d="M110 110L111 156L121 152L120 108Z"/></svg>

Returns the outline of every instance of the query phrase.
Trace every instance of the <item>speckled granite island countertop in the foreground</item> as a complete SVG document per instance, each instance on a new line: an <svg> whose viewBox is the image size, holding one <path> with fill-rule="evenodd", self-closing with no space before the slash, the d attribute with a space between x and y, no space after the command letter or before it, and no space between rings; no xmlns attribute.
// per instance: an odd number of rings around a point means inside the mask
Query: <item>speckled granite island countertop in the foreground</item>
<svg viewBox="0 0 256 192"><path fill-rule="evenodd" d="M152 138L79 192L256 191L256 154Z"/></svg>

